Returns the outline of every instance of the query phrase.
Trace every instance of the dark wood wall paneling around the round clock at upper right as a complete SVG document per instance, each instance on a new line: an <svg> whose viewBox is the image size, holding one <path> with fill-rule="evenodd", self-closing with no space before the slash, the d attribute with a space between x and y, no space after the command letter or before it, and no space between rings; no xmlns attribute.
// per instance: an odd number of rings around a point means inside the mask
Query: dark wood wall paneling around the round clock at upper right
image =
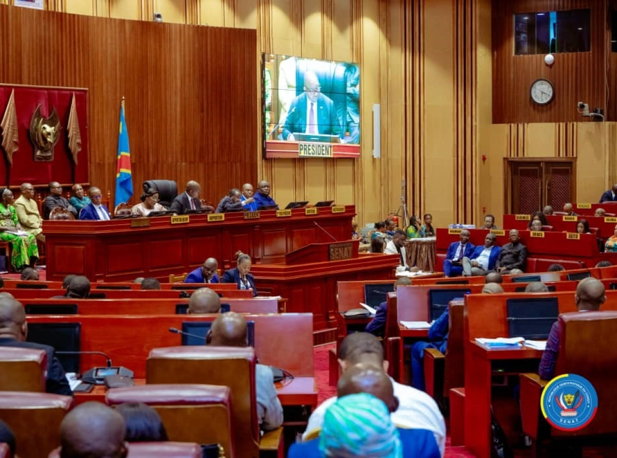
<svg viewBox="0 0 617 458"><path fill-rule="evenodd" d="M590 52L555 54L548 67L544 55L514 55L514 20L519 12L544 12L590 9ZM492 1L493 122L581 122L576 103L607 112L607 37L606 1L594 0L516 0ZM555 86L555 99L549 105L535 105L529 86L537 78L547 78Z"/></svg>

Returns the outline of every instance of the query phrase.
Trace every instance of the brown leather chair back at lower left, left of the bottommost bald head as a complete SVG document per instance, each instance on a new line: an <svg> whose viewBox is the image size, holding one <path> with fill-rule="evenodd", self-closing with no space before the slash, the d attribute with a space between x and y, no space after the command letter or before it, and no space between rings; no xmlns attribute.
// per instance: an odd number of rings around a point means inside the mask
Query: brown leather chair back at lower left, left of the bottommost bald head
<svg viewBox="0 0 617 458"><path fill-rule="evenodd" d="M0 419L15 433L20 458L40 458L60 445L60 423L73 406L70 396L4 391Z"/></svg>

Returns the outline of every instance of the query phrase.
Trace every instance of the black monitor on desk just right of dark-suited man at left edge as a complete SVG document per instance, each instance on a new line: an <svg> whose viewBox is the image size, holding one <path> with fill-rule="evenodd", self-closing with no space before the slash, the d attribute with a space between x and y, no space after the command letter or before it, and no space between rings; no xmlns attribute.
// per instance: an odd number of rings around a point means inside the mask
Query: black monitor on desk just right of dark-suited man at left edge
<svg viewBox="0 0 617 458"><path fill-rule="evenodd" d="M28 323L28 342L43 343L56 351L81 350L80 323ZM59 354L65 372L79 372L78 354Z"/></svg>

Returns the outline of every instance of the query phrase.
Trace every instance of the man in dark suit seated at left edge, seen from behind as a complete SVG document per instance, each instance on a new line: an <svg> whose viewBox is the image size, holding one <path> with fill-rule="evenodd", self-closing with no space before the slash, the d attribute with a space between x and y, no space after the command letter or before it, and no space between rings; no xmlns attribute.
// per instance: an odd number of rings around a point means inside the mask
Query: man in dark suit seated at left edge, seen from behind
<svg viewBox="0 0 617 458"><path fill-rule="evenodd" d="M73 396L64 369L55 356L54 348L40 343L27 342L28 323L23 306L9 296L0 296L0 346L38 348L47 353L45 391L56 395Z"/></svg>

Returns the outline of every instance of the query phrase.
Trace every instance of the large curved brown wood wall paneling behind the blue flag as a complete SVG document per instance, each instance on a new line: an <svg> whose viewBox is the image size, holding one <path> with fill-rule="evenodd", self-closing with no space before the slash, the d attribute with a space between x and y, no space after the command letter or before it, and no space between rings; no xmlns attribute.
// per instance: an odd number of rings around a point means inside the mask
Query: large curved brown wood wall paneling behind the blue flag
<svg viewBox="0 0 617 458"><path fill-rule="evenodd" d="M41 28L43 16L46 27ZM231 186L255 181L254 30L6 6L0 8L0 23L5 26L1 39L8 44L0 51L0 81L89 89L90 182L113 194L122 96L134 199L141 182L152 178L175 179L180 189L197 179L217 202ZM45 72L39 62L47 62Z"/></svg>

